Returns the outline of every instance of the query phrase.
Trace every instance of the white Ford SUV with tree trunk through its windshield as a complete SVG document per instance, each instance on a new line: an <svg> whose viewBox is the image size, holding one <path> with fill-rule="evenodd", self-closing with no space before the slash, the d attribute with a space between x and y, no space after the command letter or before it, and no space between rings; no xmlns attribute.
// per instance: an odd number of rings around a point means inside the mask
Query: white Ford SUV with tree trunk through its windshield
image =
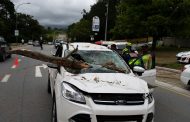
<svg viewBox="0 0 190 122"><path fill-rule="evenodd" d="M154 121L154 98L147 83L117 53L95 44L71 43L56 55L66 57L76 47L68 59L86 62L90 68L49 64L53 122Z"/></svg>

